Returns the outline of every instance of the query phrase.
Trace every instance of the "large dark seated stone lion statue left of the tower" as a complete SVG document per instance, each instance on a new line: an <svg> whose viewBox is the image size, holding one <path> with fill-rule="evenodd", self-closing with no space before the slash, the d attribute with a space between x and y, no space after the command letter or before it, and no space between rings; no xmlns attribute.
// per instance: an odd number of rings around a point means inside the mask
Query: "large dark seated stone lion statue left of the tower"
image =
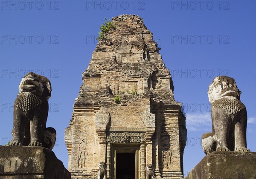
<svg viewBox="0 0 256 179"><path fill-rule="evenodd" d="M51 83L29 72L20 82L14 102L12 141L10 145L41 146L52 150L56 131L46 128Z"/></svg>

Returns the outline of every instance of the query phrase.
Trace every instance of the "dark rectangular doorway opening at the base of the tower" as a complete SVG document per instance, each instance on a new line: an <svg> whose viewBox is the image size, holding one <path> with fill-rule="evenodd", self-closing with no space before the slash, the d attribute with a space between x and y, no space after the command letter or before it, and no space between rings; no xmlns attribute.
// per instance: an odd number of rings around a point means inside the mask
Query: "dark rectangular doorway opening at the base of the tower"
<svg viewBox="0 0 256 179"><path fill-rule="evenodd" d="M135 179L135 153L116 153L116 179Z"/></svg>

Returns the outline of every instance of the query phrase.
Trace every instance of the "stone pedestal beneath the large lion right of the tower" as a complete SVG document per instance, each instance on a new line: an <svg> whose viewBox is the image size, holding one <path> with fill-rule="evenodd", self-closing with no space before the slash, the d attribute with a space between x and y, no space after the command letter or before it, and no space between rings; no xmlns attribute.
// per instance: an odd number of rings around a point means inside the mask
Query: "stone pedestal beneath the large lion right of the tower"
<svg viewBox="0 0 256 179"><path fill-rule="evenodd" d="M212 152L185 179L255 179L256 152Z"/></svg>

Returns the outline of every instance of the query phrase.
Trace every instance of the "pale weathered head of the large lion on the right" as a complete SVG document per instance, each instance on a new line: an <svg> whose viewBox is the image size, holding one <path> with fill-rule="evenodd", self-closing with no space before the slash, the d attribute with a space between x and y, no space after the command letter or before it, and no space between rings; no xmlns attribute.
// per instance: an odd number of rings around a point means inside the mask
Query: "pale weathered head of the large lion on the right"
<svg viewBox="0 0 256 179"><path fill-rule="evenodd" d="M209 102L214 102L222 97L235 97L240 99L241 91L236 86L233 78L227 76L217 76L209 85Z"/></svg>

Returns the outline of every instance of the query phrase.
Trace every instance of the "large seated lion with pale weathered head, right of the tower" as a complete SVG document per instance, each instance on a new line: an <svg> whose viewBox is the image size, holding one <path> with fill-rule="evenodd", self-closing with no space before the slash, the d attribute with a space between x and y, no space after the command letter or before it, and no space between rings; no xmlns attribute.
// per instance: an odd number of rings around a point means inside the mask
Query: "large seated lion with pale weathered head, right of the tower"
<svg viewBox="0 0 256 179"><path fill-rule="evenodd" d="M207 155L213 151L250 151L246 144L247 112L240 95L231 77L217 76L209 85L212 132L202 136Z"/></svg>

